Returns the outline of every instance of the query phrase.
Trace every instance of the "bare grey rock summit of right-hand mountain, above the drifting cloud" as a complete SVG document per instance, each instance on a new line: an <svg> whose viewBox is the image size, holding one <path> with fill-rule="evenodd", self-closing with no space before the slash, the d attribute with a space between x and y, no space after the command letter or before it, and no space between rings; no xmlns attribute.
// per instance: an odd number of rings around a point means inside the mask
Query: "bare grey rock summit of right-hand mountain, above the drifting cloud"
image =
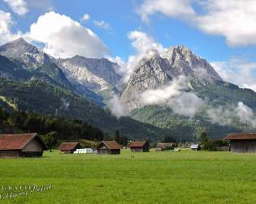
<svg viewBox="0 0 256 204"><path fill-rule="evenodd" d="M212 66L197 57L184 46L171 47L161 56L155 53L145 57L133 71L131 78L120 98L128 109L141 108L139 96L146 90L167 86L172 79L186 76L191 79L206 79L210 82L221 81Z"/></svg>

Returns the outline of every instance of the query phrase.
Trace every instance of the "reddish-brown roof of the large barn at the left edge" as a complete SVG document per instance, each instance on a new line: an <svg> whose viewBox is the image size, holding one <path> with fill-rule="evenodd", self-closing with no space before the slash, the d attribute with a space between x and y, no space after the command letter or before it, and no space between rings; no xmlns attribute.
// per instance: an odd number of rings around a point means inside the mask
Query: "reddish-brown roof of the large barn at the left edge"
<svg viewBox="0 0 256 204"><path fill-rule="evenodd" d="M32 134L0 134L0 150L21 150L28 142L38 138L46 149L46 144L37 136L36 133Z"/></svg>

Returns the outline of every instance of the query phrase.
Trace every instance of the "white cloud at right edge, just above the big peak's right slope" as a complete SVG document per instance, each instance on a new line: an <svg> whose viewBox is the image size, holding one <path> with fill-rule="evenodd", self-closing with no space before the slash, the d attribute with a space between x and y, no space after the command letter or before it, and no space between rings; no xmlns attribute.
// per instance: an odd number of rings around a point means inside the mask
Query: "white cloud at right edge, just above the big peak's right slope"
<svg viewBox="0 0 256 204"><path fill-rule="evenodd" d="M256 91L256 62L246 62L236 57L227 62L211 62L210 64L224 81Z"/></svg>

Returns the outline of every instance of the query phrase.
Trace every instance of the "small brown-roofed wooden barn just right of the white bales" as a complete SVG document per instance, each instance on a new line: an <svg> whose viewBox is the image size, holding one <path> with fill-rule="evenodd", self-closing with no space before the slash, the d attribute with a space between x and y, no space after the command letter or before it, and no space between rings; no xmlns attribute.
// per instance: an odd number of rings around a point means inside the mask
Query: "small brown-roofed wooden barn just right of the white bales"
<svg viewBox="0 0 256 204"><path fill-rule="evenodd" d="M98 147L98 155L119 155L121 147L115 141L102 141Z"/></svg>

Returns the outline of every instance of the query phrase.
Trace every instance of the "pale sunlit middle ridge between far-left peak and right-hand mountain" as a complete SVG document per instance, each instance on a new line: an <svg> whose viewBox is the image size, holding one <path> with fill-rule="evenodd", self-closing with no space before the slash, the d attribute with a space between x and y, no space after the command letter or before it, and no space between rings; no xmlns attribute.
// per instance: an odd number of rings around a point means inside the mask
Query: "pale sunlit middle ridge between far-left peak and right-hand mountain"
<svg viewBox="0 0 256 204"><path fill-rule="evenodd" d="M74 86L87 87L104 97L106 92L118 92L121 76L117 73L119 66L106 58L92 59L75 56L67 59L56 60L58 66L67 75L67 78Z"/></svg>

